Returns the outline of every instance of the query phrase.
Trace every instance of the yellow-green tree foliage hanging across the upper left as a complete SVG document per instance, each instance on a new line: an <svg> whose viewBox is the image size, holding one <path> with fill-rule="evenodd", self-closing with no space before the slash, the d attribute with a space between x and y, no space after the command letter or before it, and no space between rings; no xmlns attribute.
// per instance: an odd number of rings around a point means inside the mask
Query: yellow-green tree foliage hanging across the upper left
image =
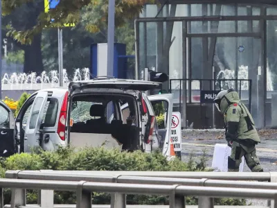
<svg viewBox="0 0 277 208"><path fill-rule="evenodd" d="M116 26L123 26L127 19L137 17L146 2L153 3L154 0L116 0ZM55 9L48 12L44 12L42 0L3 0L3 14L11 15L15 10L20 11L30 4L39 4L38 15L32 27L15 28L12 24L7 26L8 36L22 44L31 44L35 35L41 33L44 28L60 28L64 24L82 22L87 31L98 33L107 26L108 0L63 0ZM87 11L84 13L86 15L81 15L82 10ZM93 19L90 18L91 14L93 14ZM55 21L51 22L51 19Z"/></svg>

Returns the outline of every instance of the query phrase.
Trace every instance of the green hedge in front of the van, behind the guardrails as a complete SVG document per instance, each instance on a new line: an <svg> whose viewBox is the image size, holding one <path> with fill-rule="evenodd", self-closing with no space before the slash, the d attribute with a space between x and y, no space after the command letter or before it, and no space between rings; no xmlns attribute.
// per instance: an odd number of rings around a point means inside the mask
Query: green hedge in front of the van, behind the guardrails
<svg viewBox="0 0 277 208"><path fill-rule="evenodd" d="M175 159L167 161L160 153L120 153L118 150L105 148L83 148L75 151L72 148L59 148L55 152L37 150L34 153L12 155L7 159L0 159L0 174L5 176L6 170L72 170L72 171L203 171L205 157L195 162L190 157L188 163ZM104 205L110 203L107 193L93 193L93 204ZM10 203L10 190L4 191L5 204ZM28 203L37 203L37 191L29 191ZM56 204L75 203L75 193L56 191ZM129 205L168 205L166 196L127 196ZM196 205L197 198L186 198L187 205ZM216 205L245 205L245 200L216 199Z"/></svg>

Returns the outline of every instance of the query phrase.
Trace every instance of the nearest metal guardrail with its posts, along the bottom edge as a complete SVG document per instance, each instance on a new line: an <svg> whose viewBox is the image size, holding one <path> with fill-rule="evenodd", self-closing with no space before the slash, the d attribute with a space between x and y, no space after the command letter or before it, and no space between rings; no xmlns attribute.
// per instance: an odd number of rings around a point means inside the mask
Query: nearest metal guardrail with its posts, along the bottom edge
<svg viewBox="0 0 277 208"><path fill-rule="evenodd" d="M125 194L151 194L169 196L170 208L184 208L185 196L206 196L208 198L261 198L277 200L275 189L244 189L244 188L221 188L221 187L192 187L182 185L157 185L157 184L114 184L103 182L72 182L55 180L24 180L24 179L0 179L0 187L12 188L11 208L26 207L26 198L22 196L20 189L53 189L60 191L75 191L77 195L76 208L91 208L91 192L100 191L118 193L111 200L111 207L126 207ZM2 192L3 193L3 192ZM24 197L26 197L24 195ZM45 196L48 198L48 196ZM3 198L2 198L3 201ZM2 205L3 207L3 205ZM50 203L47 206L53 207ZM199 207L213 207L213 204L203 204ZM277 203L274 203L274 208Z"/></svg>

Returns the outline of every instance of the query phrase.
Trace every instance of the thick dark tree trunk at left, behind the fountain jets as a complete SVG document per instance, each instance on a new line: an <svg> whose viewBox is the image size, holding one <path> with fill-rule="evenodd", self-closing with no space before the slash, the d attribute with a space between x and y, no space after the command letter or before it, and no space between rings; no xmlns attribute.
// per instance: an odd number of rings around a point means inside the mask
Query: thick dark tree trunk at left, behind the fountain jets
<svg viewBox="0 0 277 208"><path fill-rule="evenodd" d="M37 76L44 71L42 63L42 33L35 35L32 44L24 46L24 72L36 72Z"/></svg>

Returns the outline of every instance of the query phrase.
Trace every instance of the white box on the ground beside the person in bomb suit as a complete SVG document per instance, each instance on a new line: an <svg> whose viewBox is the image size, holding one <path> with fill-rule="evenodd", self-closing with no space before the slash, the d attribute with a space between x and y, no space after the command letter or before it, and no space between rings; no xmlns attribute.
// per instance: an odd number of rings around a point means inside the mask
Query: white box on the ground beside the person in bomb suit
<svg viewBox="0 0 277 208"><path fill-rule="evenodd" d="M228 172L228 157L231 155L231 148L226 144L215 144L215 150L213 152L212 168L215 171ZM244 157L240 163L240 172L243 171Z"/></svg>

